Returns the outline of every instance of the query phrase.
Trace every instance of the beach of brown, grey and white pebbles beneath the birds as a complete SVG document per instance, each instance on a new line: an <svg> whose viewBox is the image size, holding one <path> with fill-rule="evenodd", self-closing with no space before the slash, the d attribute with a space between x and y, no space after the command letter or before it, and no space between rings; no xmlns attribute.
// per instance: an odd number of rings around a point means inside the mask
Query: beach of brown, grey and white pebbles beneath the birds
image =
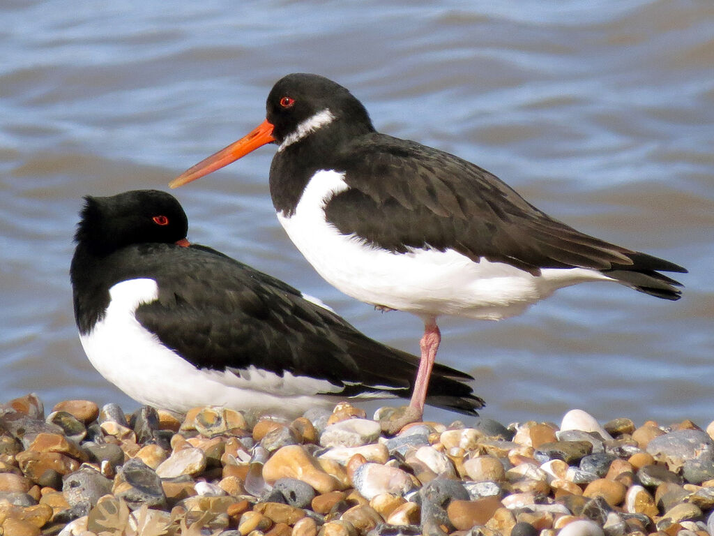
<svg viewBox="0 0 714 536"><path fill-rule="evenodd" d="M2 536L714 533L714 422L0 405ZM408 419L407 419L408 420Z"/></svg>

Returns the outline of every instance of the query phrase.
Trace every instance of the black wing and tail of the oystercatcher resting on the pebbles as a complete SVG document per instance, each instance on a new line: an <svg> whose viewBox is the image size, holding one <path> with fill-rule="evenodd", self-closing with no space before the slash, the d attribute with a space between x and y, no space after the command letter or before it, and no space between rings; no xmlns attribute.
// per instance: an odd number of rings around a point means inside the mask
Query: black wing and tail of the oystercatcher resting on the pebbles
<svg viewBox="0 0 714 536"><path fill-rule="evenodd" d="M159 283L159 299L141 305L136 317L196 367L238 371L252 364L278 375L326 379L337 387L331 394L346 397L411 394L417 357L366 337L288 284L212 249L165 248L175 262L161 256L171 262L165 276L160 267L145 266ZM139 272L134 277L142 277ZM469 414L482 407L458 381L464 379L472 378L436 365L428 392L433 404Z"/></svg>

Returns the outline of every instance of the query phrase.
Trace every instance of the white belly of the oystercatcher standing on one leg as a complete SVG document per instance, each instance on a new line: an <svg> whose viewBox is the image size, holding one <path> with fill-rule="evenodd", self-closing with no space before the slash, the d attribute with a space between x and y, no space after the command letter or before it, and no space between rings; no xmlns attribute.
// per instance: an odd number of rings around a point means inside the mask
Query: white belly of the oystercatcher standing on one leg
<svg viewBox="0 0 714 536"><path fill-rule="evenodd" d="M498 320L523 312L556 289L585 281L613 281L590 269L543 269L539 276L501 262L448 249L393 253L344 235L325 219L324 207L348 189L343 174L317 172L291 217L278 220L326 281L351 297L420 317L441 314Z"/></svg>

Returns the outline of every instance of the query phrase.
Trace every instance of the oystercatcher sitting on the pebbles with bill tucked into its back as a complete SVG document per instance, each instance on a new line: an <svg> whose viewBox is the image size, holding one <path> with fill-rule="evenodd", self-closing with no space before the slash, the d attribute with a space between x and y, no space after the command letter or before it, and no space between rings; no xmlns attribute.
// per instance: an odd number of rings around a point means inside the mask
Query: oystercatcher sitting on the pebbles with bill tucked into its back
<svg viewBox="0 0 714 536"><path fill-rule="evenodd" d="M346 398L408 397L419 359L380 344L288 284L190 245L157 190L86 197L71 264L74 315L94 367L139 402L297 415ZM436 368L427 402L476 415L483 400Z"/></svg>

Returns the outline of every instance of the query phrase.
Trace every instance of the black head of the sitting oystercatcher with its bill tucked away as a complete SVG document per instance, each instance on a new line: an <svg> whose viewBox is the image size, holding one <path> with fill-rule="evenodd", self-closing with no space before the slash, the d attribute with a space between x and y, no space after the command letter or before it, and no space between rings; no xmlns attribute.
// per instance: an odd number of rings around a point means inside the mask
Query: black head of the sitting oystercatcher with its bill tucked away
<svg viewBox="0 0 714 536"><path fill-rule="evenodd" d="M109 254L130 244L173 244L186 238L188 219L176 198L159 190L132 190L84 198L74 236L78 244Z"/></svg>

